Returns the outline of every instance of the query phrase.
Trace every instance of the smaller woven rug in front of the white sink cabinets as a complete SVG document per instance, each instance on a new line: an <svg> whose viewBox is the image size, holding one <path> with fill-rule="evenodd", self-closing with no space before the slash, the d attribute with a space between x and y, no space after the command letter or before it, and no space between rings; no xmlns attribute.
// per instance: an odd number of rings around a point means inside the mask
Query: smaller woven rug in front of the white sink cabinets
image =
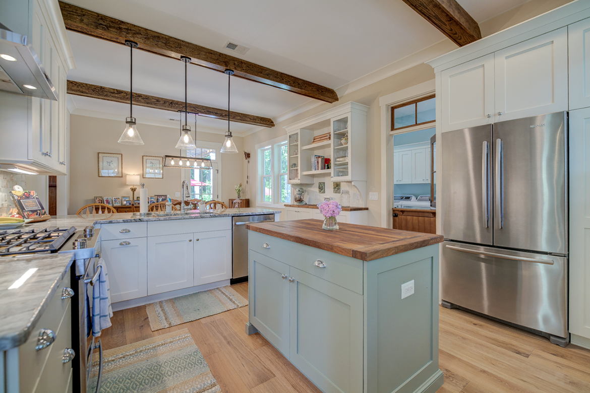
<svg viewBox="0 0 590 393"><path fill-rule="evenodd" d="M248 305L229 285L146 305L152 332Z"/></svg>

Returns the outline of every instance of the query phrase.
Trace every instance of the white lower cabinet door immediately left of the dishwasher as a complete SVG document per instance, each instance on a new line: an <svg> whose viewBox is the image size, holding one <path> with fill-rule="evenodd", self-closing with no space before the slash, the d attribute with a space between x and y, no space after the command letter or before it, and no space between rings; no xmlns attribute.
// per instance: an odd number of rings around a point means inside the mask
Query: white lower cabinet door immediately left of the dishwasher
<svg viewBox="0 0 590 393"><path fill-rule="evenodd" d="M231 278L231 229L195 233L194 285Z"/></svg>

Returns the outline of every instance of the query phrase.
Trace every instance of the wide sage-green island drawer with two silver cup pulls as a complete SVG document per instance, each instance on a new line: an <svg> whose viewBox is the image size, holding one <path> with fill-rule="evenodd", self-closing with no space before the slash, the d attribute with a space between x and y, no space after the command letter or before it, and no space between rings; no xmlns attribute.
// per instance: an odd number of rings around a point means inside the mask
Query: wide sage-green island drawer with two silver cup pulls
<svg viewBox="0 0 590 393"><path fill-rule="evenodd" d="M248 247L286 265L363 294L363 261L250 231ZM268 245L265 247L264 245ZM325 267L322 266L322 263Z"/></svg>

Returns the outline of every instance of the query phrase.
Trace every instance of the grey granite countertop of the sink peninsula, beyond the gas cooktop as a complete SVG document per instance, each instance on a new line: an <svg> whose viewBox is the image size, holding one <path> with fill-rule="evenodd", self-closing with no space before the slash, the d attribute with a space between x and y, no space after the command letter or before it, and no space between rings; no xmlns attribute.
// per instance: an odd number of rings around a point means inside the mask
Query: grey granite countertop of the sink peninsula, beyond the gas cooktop
<svg viewBox="0 0 590 393"><path fill-rule="evenodd" d="M168 221L168 220L189 220L189 219L206 219L211 217L235 217L235 216L254 216L258 214L276 214L281 213L280 210L258 209L257 207L246 207L244 209L226 209L220 213L199 213L198 210L188 210L191 214L183 214L178 216L148 216L148 217L134 217L133 213L116 213L116 214L96 214L96 216L89 216L88 218L77 216L76 214L70 216L54 216L50 220L32 224L26 224L23 229L35 228L68 228L71 226L77 229L83 229L86 226L93 224L112 224L112 223L128 223L128 222L147 222L147 221ZM174 212L173 212L174 213ZM176 212L179 213L179 212Z"/></svg>

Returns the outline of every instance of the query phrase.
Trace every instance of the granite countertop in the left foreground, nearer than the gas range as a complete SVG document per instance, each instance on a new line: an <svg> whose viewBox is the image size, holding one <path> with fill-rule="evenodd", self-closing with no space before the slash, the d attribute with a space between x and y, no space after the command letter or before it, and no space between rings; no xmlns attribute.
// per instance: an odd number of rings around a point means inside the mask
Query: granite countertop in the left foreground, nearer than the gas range
<svg viewBox="0 0 590 393"><path fill-rule="evenodd" d="M24 344L73 263L73 254L0 257L0 351ZM29 269L19 288L8 289Z"/></svg>

